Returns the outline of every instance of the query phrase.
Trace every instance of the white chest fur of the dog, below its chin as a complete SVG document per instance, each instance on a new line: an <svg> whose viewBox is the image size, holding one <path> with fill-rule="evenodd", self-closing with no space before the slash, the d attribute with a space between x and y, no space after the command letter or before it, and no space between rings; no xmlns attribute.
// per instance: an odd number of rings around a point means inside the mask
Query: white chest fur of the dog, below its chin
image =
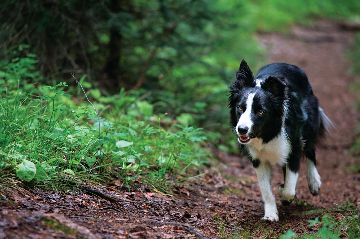
<svg viewBox="0 0 360 239"><path fill-rule="evenodd" d="M271 165L279 164L283 166L286 164L291 152L291 145L285 128L282 127L279 135L266 144L262 139L252 139L248 149L253 159L259 159L261 162L267 162Z"/></svg>

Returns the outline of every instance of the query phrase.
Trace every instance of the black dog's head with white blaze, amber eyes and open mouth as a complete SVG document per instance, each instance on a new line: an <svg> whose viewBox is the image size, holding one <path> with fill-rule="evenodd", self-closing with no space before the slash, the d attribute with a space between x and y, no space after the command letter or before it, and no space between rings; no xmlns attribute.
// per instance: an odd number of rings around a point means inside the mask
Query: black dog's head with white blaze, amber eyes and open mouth
<svg viewBox="0 0 360 239"><path fill-rule="evenodd" d="M265 75L254 76L242 60L230 86L229 107L233 130L240 144L260 138L269 142L281 130L285 111L286 80Z"/></svg>

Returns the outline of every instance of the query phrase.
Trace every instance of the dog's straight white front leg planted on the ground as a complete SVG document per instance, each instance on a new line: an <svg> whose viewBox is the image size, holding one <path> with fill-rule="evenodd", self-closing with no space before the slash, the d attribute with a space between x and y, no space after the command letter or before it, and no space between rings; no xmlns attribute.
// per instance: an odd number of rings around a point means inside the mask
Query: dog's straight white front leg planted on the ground
<svg viewBox="0 0 360 239"><path fill-rule="evenodd" d="M259 162L259 164L254 165L254 167L261 190L262 200L264 201L265 215L262 219L279 221L276 201L270 185L270 165L267 163Z"/></svg>

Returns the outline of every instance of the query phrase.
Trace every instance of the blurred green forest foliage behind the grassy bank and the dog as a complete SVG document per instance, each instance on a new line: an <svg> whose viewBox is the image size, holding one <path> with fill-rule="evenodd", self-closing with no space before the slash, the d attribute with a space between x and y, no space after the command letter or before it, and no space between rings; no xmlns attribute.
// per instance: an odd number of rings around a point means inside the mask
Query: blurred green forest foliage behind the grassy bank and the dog
<svg viewBox="0 0 360 239"><path fill-rule="evenodd" d="M147 127L146 122L135 123L146 118L156 121L158 128L181 125L184 139L193 142L186 133L202 127L208 143L235 152L228 121L228 85L243 58L254 72L267 63L255 33L286 32L291 24L311 25L318 18L359 22L360 1L3 0L1 84L42 99L49 97L54 107L52 93L34 93L34 89L64 87L59 82L65 81L64 90L73 95L67 107L77 112L76 104L85 97L71 76L75 72L100 117L111 121L108 128L103 122L105 129L121 124L129 129ZM360 65L359 39L351 56L354 69ZM16 95L1 89L4 95ZM64 96L63 90L54 94L60 93ZM130 161L135 163L139 156L132 156Z"/></svg>

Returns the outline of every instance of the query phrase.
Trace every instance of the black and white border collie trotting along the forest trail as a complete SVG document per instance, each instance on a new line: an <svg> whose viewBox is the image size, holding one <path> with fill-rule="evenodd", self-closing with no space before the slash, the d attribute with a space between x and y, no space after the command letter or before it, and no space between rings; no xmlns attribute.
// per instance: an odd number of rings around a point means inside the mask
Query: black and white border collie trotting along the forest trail
<svg viewBox="0 0 360 239"><path fill-rule="evenodd" d="M303 70L274 63L262 67L254 78L242 60L230 86L229 108L240 153L255 168L264 201L263 220L279 220L270 185L272 165L283 168L285 183L278 192L284 205L294 200L302 155L306 157L310 192L319 193L315 144L332 123L318 106Z"/></svg>

